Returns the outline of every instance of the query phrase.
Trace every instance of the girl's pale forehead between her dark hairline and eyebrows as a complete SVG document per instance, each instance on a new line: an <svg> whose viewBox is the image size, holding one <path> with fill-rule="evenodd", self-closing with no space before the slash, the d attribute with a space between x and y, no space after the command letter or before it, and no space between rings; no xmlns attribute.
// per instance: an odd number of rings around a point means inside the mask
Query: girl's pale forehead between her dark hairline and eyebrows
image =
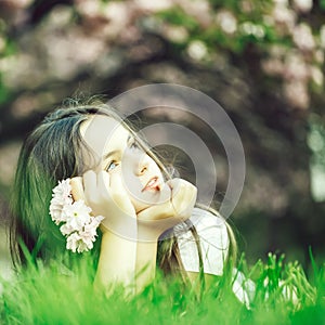
<svg viewBox="0 0 325 325"><path fill-rule="evenodd" d="M80 126L80 133L86 143L98 154L127 141L130 132L120 121L113 117L94 115L84 120Z"/></svg>

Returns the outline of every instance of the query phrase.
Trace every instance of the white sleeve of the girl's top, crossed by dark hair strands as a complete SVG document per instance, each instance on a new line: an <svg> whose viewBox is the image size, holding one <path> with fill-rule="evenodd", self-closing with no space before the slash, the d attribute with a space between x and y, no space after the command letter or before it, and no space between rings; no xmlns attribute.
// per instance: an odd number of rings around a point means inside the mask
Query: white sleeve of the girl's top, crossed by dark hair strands
<svg viewBox="0 0 325 325"><path fill-rule="evenodd" d="M230 244L225 221L198 208L194 209L190 220L199 237L204 272L222 275ZM176 225L173 231L184 269L188 272L199 272L197 245L192 232L184 223Z"/></svg>

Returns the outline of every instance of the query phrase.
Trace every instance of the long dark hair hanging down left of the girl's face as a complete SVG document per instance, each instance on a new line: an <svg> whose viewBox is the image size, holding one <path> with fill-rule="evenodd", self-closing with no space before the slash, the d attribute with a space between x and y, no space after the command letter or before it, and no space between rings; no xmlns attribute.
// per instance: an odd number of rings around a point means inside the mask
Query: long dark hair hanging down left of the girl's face
<svg viewBox="0 0 325 325"><path fill-rule="evenodd" d="M51 221L49 204L58 180L87 170L88 152L79 132L80 123L96 108L57 109L29 134L18 157L12 188L10 248L14 263L26 262L23 246L35 258L47 260L64 251L58 227Z"/></svg>

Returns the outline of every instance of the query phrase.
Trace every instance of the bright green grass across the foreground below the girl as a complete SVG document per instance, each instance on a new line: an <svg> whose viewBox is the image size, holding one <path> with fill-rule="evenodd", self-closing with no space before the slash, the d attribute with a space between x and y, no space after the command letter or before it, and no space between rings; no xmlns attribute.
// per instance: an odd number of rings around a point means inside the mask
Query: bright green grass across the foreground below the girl
<svg viewBox="0 0 325 325"><path fill-rule="evenodd" d="M56 264L29 266L2 281L3 324L325 324L324 264L313 262L308 280L299 263L284 263L270 255L266 262L239 269L253 280L249 307L232 290L230 272L198 298L178 280L157 276L141 295L126 297L117 288L110 297L94 291L87 259L75 272Z"/></svg>

